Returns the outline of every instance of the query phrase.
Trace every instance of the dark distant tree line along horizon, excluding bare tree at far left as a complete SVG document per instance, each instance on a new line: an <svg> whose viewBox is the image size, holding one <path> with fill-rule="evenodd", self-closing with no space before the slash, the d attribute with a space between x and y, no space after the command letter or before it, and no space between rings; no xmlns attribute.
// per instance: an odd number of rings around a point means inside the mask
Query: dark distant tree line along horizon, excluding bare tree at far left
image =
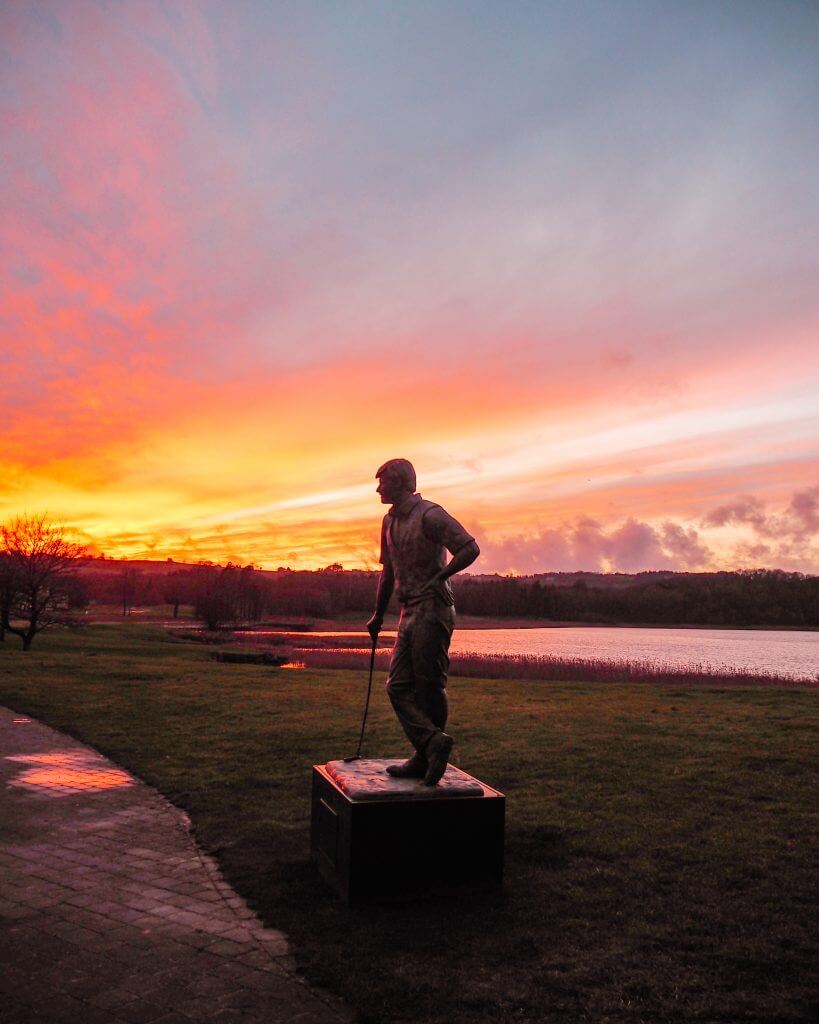
<svg viewBox="0 0 819 1024"><path fill-rule="evenodd" d="M276 616L344 618L375 606L378 572L343 569L263 571L252 565L200 564L168 571L128 563L84 577L97 604L189 606L207 628ZM781 569L735 572L461 575L452 580L461 614L595 625L819 626L819 577ZM392 610L397 608L394 605Z"/></svg>

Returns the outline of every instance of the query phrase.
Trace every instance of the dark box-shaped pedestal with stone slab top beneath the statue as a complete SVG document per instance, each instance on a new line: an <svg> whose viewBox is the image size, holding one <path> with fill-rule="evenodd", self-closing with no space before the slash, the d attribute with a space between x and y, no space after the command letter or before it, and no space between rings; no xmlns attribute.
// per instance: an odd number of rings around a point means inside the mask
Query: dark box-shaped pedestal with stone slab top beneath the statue
<svg viewBox="0 0 819 1024"><path fill-rule="evenodd" d="M346 903L500 885L506 797L447 766L438 785L396 779L399 759L314 765L310 847Z"/></svg>

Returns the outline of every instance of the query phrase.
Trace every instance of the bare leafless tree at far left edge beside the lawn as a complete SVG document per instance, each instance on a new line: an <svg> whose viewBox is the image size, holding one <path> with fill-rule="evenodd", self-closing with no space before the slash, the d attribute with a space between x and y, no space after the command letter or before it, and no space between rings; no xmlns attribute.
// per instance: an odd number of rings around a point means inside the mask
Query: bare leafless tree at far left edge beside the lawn
<svg viewBox="0 0 819 1024"><path fill-rule="evenodd" d="M8 595L0 602L2 627L23 640L24 650L41 630L64 617L66 585L84 553L45 515L18 516L0 525L0 591L7 581Z"/></svg>

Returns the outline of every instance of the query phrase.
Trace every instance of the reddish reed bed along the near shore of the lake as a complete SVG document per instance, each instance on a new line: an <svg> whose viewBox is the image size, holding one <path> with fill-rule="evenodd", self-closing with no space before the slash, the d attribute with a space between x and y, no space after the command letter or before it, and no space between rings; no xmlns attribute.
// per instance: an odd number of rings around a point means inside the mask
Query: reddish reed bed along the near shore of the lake
<svg viewBox="0 0 819 1024"><path fill-rule="evenodd" d="M376 668L386 672L390 651L376 651ZM298 648L292 666L308 669L367 669L370 652L343 647ZM452 654L449 675L480 679L572 680L585 683L699 683L709 686L819 686L818 679L745 672L710 665L685 668L660 662L609 662L597 657L553 657L548 654Z"/></svg>

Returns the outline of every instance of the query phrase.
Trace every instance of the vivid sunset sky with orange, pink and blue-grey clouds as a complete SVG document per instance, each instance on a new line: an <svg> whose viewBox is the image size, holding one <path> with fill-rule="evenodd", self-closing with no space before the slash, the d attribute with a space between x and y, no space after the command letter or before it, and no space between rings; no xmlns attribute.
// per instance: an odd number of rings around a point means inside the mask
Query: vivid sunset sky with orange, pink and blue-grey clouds
<svg viewBox="0 0 819 1024"><path fill-rule="evenodd" d="M0 3L0 521L819 571L813 0Z"/></svg>

